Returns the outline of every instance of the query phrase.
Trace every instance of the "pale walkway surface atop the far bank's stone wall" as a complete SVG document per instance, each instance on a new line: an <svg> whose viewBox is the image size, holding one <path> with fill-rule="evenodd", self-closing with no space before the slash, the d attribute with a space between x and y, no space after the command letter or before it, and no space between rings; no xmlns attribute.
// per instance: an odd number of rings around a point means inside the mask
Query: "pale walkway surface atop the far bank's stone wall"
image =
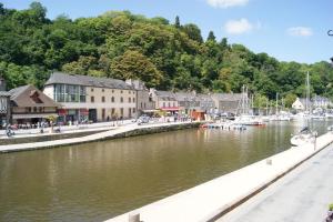
<svg viewBox="0 0 333 222"><path fill-rule="evenodd" d="M44 148L53 148L53 147L62 147L62 145L78 144L78 143L84 143L84 142L92 142L92 141L103 140L107 138L117 137L121 133L127 133L127 132L131 132L131 131L140 130L140 129L154 129L154 128L163 128L163 127L171 127L171 125L184 125L184 124L191 124L191 123L192 122L169 122L169 123L151 123L151 124L142 124L142 125L132 123L132 124L119 127L117 129L112 128L112 130L109 130L105 132L94 133L94 134L85 135L85 137L81 137L81 138L71 138L71 139L53 140L53 141L46 141L46 142L0 145L0 153L1 152L23 151L23 150L37 150L37 149L44 149Z"/></svg>

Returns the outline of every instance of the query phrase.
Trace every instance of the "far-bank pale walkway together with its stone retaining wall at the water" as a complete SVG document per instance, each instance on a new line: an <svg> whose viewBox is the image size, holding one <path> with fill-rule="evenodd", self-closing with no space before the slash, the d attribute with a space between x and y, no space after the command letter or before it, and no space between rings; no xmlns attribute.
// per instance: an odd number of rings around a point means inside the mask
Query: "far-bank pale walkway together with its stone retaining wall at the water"
<svg viewBox="0 0 333 222"><path fill-rule="evenodd" d="M119 138L128 138L128 137L198 128L201 122L171 122L171 123L152 123L152 124L142 124L142 125L138 125L133 123L133 124L128 124L115 129L111 129L108 131L89 134L85 137L43 141L43 142L0 145L0 153L57 148L63 145L73 145L79 143L102 141L102 140L112 140Z"/></svg>

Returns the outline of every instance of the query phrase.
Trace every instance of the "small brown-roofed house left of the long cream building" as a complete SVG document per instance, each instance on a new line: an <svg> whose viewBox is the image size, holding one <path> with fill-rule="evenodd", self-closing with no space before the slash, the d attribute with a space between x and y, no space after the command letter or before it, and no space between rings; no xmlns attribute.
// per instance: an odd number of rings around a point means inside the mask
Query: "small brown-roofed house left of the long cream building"
<svg viewBox="0 0 333 222"><path fill-rule="evenodd" d="M9 93L12 124L37 124L58 117L59 104L33 85L19 87Z"/></svg>

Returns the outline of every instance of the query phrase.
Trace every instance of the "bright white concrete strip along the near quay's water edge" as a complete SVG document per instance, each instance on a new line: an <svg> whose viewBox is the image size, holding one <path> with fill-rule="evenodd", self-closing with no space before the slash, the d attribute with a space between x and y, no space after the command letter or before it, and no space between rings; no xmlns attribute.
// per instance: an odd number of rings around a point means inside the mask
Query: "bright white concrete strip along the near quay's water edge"
<svg viewBox="0 0 333 222"><path fill-rule="evenodd" d="M319 150L332 143L333 134L331 132L326 133L317 138L316 141L316 149L314 149L314 144L289 149L268 160L259 161L190 190L142 206L133 212L110 219L108 222L128 222L130 215L138 213L140 213L140 220L144 222L216 220L244 199L258 193L261 189L317 153ZM297 190L294 192L297 192ZM287 200L285 201L287 202ZM279 208L275 210L278 211ZM242 220L236 221L241 222Z"/></svg>

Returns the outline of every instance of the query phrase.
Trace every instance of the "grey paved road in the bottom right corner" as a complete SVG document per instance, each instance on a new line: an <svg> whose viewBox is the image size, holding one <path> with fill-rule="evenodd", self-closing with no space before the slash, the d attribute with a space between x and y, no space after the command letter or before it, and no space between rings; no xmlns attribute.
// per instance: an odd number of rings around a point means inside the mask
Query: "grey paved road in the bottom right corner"
<svg viewBox="0 0 333 222"><path fill-rule="evenodd" d="M333 203L333 145L219 222L322 222Z"/></svg>

